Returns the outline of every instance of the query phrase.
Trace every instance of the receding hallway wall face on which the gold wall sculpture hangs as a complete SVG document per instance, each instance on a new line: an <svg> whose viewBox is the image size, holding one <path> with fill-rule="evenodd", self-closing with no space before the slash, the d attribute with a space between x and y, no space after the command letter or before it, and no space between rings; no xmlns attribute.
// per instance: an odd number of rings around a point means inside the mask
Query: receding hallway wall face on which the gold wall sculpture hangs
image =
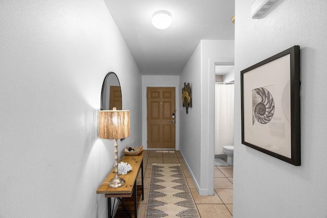
<svg viewBox="0 0 327 218"><path fill-rule="evenodd" d="M179 130L179 150L182 154L186 166L192 175L194 184L199 190L200 186L200 165L201 165L201 43L197 46L190 60L185 65L183 71L179 75L179 87L182 89L184 83L190 83L192 93L192 107L188 109L180 108L180 130Z"/></svg>

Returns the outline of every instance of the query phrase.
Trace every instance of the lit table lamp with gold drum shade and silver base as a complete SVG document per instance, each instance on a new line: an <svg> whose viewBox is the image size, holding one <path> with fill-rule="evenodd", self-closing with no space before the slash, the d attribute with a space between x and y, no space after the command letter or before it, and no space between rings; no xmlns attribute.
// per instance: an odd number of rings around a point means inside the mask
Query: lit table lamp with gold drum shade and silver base
<svg viewBox="0 0 327 218"><path fill-rule="evenodd" d="M118 143L117 139L126 138L130 134L129 110L101 110L99 112L99 136L114 139L114 170L115 176L108 183L109 187L118 188L125 180L118 176Z"/></svg>

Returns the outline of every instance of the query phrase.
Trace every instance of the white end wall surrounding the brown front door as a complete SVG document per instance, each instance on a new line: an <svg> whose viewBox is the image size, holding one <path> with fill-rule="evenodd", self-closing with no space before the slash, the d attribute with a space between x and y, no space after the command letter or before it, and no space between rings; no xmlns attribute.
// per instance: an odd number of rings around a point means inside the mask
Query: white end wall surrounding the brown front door
<svg viewBox="0 0 327 218"><path fill-rule="evenodd" d="M143 102L143 147L148 148L148 125L147 125L147 87L175 87L175 107L176 107L176 137L175 149L179 150L179 102L181 98L181 88L179 88L179 76L142 76L142 102Z"/></svg>

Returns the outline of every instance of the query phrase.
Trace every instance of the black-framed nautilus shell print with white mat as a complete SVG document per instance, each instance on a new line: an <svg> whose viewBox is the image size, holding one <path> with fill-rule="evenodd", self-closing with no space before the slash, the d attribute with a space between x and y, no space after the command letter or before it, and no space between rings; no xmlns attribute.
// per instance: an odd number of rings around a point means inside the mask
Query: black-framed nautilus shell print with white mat
<svg viewBox="0 0 327 218"><path fill-rule="evenodd" d="M293 165L300 155L299 46L241 71L242 143Z"/></svg>

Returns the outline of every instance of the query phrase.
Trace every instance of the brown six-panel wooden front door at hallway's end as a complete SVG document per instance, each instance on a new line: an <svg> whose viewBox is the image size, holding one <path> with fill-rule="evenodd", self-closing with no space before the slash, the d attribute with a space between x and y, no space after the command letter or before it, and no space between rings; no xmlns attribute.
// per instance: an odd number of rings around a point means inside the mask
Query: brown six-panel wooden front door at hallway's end
<svg viewBox="0 0 327 218"><path fill-rule="evenodd" d="M175 87L147 87L148 149L175 149Z"/></svg>

